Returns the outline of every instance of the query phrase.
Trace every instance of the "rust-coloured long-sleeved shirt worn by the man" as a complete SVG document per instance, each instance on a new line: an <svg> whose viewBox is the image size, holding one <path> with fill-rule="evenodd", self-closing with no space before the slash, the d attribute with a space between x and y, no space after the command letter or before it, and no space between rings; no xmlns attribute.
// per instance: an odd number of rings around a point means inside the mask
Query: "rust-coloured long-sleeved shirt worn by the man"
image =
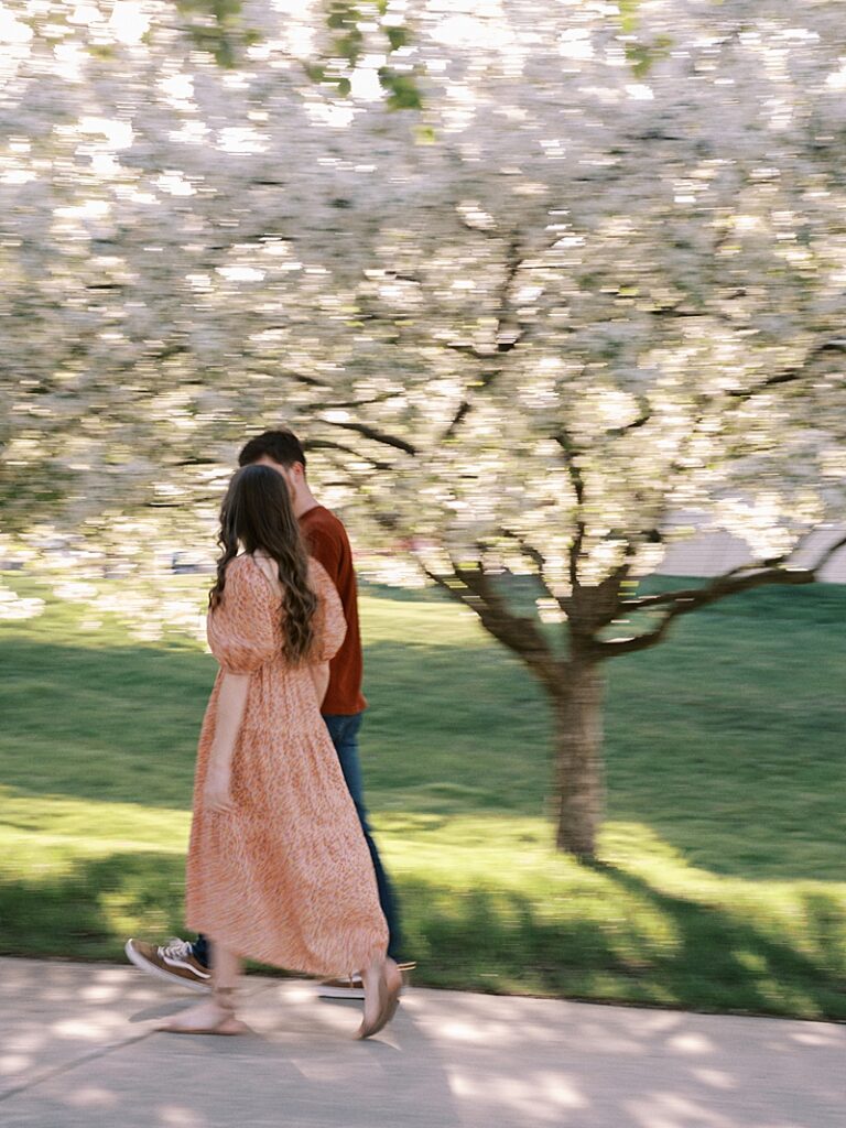
<svg viewBox="0 0 846 1128"><path fill-rule="evenodd" d="M346 637L329 662L329 688L320 711L332 716L350 716L367 708L361 693L363 662L359 632L359 593L352 548L346 529L323 505L315 505L300 517L300 529L309 553L323 564L335 584L346 619Z"/></svg>

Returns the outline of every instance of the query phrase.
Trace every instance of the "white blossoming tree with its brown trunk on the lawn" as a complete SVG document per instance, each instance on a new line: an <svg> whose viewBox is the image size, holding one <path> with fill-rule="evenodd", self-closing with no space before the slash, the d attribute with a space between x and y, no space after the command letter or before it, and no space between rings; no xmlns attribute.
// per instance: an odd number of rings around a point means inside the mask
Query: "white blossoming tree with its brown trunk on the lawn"
<svg viewBox="0 0 846 1128"><path fill-rule="evenodd" d="M591 855L607 660L813 580L839 512L837 8L7 6L8 536L199 541L294 426L539 679ZM638 593L694 512L756 562Z"/></svg>

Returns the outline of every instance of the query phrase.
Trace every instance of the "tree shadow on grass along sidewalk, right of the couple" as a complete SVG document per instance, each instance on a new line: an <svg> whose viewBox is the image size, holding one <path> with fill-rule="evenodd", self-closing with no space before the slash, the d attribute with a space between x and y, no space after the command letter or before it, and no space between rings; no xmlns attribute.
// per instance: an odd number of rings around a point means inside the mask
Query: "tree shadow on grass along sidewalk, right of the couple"
<svg viewBox="0 0 846 1128"><path fill-rule="evenodd" d="M801 895L808 950L759 922L653 888L598 865L600 899L637 904L638 922L555 917L513 890L460 893L420 880L402 885L415 981L702 1012L846 1019L846 906L836 892Z"/></svg>

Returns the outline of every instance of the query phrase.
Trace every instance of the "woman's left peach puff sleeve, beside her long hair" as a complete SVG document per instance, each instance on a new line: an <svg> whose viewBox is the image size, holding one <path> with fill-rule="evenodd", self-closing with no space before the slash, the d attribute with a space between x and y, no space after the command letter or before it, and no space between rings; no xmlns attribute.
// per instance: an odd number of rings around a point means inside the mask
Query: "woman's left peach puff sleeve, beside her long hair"
<svg viewBox="0 0 846 1128"><path fill-rule="evenodd" d="M227 565L220 603L209 611L205 633L226 673L252 673L280 658L280 611L266 579L248 556Z"/></svg>

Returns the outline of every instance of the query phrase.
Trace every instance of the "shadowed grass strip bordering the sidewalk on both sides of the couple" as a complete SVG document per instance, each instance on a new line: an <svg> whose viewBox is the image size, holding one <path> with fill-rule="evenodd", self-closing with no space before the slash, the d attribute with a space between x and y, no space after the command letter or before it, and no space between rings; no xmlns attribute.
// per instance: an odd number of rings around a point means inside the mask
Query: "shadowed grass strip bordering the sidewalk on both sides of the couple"
<svg viewBox="0 0 846 1128"><path fill-rule="evenodd" d="M178 855L146 852L6 875L0 951L122 960L133 933L184 934L184 872ZM846 1019L846 906L834 891L796 895L801 950L775 925L668 895L631 870L598 864L583 876L596 887L561 910L494 883L461 890L400 876L415 984Z"/></svg>

